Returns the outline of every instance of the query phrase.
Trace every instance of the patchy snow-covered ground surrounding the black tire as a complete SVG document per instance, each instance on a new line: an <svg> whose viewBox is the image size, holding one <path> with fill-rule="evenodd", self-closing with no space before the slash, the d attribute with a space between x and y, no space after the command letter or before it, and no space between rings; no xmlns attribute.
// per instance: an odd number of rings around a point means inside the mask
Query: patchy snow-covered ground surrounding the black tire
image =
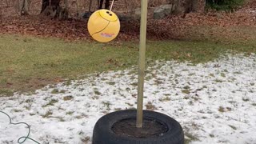
<svg viewBox="0 0 256 144"><path fill-rule="evenodd" d="M36 94L0 98L13 122L27 122L41 143L90 143L95 122L136 107L137 70L91 74ZM146 70L145 109L178 120L192 144L256 144L256 54L198 64L154 62ZM17 143L25 126L0 113L0 143ZM25 142L33 143L33 142Z"/></svg>

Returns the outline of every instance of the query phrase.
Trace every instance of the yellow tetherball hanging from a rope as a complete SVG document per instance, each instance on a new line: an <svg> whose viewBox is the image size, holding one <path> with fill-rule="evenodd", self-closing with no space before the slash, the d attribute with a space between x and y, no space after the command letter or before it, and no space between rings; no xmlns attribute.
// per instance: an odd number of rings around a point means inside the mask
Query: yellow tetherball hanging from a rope
<svg viewBox="0 0 256 144"><path fill-rule="evenodd" d="M118 36L120 22L110 10L97 10L88 21L90 35L98 42L110 42Z"/></svg>

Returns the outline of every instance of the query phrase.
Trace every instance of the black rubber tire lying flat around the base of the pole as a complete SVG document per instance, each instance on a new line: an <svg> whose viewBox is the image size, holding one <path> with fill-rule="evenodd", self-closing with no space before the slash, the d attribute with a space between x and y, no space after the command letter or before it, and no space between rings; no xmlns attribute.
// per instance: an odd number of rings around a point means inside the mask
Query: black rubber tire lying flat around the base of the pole
<svg viewBox="0 0 256 144"><path fill-rule="evenodd" d="M94 126L93 144L184 144L182 126L165 114L144 110L143 118L154 118L168 126L168 131L157 138L134 138L115 134L112 126L127 118L136 118L136 110L121 110L106 114Z"/></svg>

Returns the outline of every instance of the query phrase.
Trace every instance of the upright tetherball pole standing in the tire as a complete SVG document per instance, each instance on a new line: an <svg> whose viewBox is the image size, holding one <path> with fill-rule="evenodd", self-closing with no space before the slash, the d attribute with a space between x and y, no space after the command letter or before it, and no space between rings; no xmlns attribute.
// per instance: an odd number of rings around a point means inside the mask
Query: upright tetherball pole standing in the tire
<svg viewBox="0 0 256 144"><path fill-rule="evenodd" d="M139 44L139 68L138 68L138 101L137 101L137 122L136 127L142 128L143 122L143 89L145 76L145 55L146 55L146 20L147 0L141 0L141 31Z"/></svg>

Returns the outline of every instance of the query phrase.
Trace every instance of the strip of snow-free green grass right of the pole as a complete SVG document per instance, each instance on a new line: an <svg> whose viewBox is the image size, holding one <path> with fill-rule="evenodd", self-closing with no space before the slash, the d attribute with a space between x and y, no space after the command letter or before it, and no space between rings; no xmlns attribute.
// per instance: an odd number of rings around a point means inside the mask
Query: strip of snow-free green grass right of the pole
<svg viewBox="0 0 256 144"><path fill-rule="evenodd" d="M220 54L226 53L227 50L250 54L256 52L256 45L253 43L227 44L207 41L149 42L147 58L199 63L212 61L218 58Z"/></svg>

